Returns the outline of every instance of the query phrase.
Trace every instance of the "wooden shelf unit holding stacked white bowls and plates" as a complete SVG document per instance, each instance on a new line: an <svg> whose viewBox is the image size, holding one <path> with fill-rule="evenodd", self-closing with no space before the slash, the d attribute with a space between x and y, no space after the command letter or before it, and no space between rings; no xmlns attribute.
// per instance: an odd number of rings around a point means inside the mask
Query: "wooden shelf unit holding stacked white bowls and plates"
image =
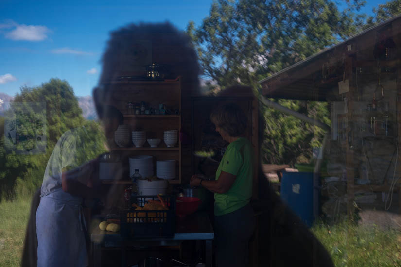
<svg viewBox="0 0 401 267"><path fill-rule="evenodd" d="M111 150L122 153L124 156L150 155L154 160L175 159L177 161L177 178L169 181L171 184L181 184L181 142L169 148L163 143L164 131L181 129L181 79L164 81L113 81L104 86L113 86L115 89L108 104L117 107L124 116L124 124L130 125L130 131L146 131L146 139L159 138L159 147L114 147ZM178 110L178 114L168 115L135 115L127 114L127 103L145 101L152 108L164 104L170 110ZM177 134L178 135L178 134ZM179 137L179 136L177 136ZM128 163L127 163L128 164ZM154 164L156 167L156 164ZM156 174L156 170L155 170Z"/></svg>

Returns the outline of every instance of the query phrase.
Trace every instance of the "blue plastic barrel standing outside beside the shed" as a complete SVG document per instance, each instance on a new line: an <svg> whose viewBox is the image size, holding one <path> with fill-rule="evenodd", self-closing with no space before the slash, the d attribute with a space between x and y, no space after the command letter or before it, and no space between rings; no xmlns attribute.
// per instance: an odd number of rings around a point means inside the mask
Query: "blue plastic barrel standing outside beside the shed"
<svg viewBox="0 0 401 267"><path fill-rule="evenodd" d="M313 181L313 172L283 172L281 179L281 199L308 227L314 221Z"/></svg>

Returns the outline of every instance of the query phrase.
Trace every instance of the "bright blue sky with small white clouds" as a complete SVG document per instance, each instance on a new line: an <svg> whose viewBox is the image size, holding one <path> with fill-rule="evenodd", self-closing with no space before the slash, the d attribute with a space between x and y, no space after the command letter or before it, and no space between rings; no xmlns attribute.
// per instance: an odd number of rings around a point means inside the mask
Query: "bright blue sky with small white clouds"
<svg viewBox="0 0 401 267"><path fill-rule="evenodd" d="M75 94L91 94L109 32L131 22L169 20L179 29L199 25L212 0L0 1L0 92L52 77L67 80ZM362 10L385 0L367 1Z"/></svg>

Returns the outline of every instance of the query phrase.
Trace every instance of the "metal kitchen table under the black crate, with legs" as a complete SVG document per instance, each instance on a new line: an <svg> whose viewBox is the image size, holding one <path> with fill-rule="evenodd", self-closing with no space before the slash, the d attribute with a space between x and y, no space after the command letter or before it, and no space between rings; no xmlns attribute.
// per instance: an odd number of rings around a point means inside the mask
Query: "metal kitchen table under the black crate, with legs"
<svg viewBox="0 0 401 267"><path fill-rule="evenodd" d="M212 266L212 241L214 239L213 227L206 212L196 212L182 219L177 218L176 232L173 237L157 237L129 239L120 236L120 233L101 231L98 227L90 235L93 265L102 266L101 249L104 247L121 248L122 266L126 267L126 247L127 246L174 246L179 245L184 240L200 240L205 242L205 264Z"/></svg>

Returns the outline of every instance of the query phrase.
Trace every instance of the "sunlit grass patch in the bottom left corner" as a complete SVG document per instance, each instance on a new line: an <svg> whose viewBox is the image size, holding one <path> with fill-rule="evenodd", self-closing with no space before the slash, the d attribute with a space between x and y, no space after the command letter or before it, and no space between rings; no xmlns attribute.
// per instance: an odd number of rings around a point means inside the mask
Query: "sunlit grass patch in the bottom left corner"
<svg viewBox="0 0 401 267"><path fill-rule="evenodd" d="M0 267L20 266L30 208L30 197L0 202Z"/></svg>

